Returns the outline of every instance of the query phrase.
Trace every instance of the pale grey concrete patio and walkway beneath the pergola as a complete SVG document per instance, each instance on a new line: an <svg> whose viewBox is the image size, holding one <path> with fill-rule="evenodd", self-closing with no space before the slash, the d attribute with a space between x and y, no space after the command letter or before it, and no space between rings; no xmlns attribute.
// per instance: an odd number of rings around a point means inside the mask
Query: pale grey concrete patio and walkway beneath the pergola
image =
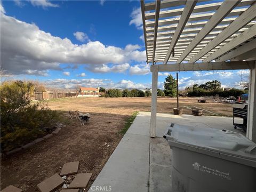
<svg viewBox="0 0 256 192"><path fill-rule="evenodd" d="M119 192L173 192L172 150L163 138L170 123L227 129L245 135L233 128L231 117L157 114L157 137L150 138L150 113L140 112L89 191L95 191L96 186L110 186L111 191Z"/></svg>

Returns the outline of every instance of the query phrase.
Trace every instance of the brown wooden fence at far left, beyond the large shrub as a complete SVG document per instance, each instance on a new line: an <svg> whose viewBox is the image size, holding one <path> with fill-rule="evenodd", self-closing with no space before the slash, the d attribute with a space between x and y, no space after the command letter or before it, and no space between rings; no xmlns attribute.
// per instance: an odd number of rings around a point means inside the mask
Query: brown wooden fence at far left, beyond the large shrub
<svg viewBox="0 0 256 192"><path fill-rule="evenodd" d="M34 92L34 100L41 100L41 99L59 99L65 97L75 97L77 93L64 93L64 92L42 92L37 91Z"/></svg>

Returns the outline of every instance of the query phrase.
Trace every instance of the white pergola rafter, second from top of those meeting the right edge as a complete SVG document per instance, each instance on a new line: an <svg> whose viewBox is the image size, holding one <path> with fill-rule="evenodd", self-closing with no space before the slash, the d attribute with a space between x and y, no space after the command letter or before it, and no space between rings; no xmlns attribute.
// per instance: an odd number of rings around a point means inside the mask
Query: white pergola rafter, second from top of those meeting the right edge
<svg viewBox="0 0 256 192"><path fill-rule="evenodd" d="M226 53L234 49L236 46L248 41L249 39L255 36L256 36L256 25L253 25L252 27L244 31L244 33L242 33L241 35L238 35L237 37L232 39L230 42L228 42L226 45L222 46L220 49L218 49L217 51L209 55L209 57L204 59L203 62L210 62L215 58L219 57L220 55L222 55L223 53Z"/></svg>

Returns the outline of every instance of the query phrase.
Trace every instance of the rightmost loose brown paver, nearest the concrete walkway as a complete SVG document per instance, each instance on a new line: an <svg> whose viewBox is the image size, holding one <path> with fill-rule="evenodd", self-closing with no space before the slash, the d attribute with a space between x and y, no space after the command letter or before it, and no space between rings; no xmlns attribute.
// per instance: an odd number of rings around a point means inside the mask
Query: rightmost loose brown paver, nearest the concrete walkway
<svg viewBox="0 0 256 192"><path fill-rule="evenodd" d="M69 189L85 188L92 177L92 173L79 173L68 186Z"/></svg>

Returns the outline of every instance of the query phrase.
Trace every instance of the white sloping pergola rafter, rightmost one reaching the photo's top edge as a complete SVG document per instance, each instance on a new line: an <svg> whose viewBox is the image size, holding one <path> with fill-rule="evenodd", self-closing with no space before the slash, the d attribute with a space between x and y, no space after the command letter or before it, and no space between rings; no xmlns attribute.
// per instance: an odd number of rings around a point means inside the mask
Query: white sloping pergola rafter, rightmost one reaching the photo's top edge
<svg viewBox="0 0 256 192"><path fill-rule="evenodd" d="M240 1L225 1L219 7L219 9L212 15L211 19L205 24L204 28L199 31L197 36L193 41L188 45L187 49L183 52L181 57L178 60L178 63L181 63L187 55L201 42L204 37L206 37L210 32L231 12L234 7Z"/></svg>

